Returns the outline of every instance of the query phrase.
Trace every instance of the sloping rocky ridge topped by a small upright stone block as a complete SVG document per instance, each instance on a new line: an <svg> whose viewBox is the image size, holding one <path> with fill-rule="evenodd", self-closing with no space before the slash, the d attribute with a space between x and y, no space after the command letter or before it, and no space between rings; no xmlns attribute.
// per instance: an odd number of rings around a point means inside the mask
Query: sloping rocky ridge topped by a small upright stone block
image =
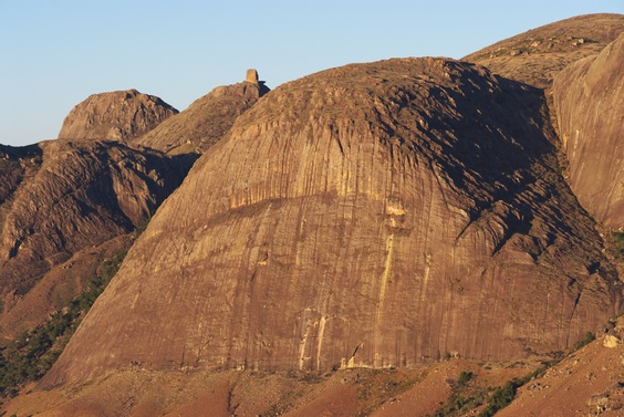
<svg viewBox="0 0 624 417"><path fill-rule="evenodd" d="M225 136L238 116L269 92L258 81L256 70L249 72L245 82L212 90L135 143L168 154L204 153Z"/></svg>

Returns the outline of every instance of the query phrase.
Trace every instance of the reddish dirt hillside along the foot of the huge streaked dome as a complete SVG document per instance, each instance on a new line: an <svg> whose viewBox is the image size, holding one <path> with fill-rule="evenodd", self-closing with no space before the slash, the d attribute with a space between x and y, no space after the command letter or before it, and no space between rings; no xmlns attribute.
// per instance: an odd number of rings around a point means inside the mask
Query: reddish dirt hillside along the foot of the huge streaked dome
<svg viewBox="0 0 624 417"><path fill-rule="evenodd" d="M425 416L440 410L461 389L493 389L534 368L533 362L450 359L414 369L345 369L308 373L147 371L131 366L86 383L52 390L34 386L7 402L7 415L46 417L230 416Z"/></svg>

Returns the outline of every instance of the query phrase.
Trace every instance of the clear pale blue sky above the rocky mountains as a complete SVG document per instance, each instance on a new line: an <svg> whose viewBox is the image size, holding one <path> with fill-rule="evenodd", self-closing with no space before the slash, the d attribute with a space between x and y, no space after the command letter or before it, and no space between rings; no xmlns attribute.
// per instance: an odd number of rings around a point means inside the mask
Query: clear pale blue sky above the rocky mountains
<svg viewBox="0 0 624 417"><path fill-rule="evenodd" d="M449 56L623 0L0 0L0 143L55 138L94 93L183 111L256 67L271 88L352 62Z"/></svg>

